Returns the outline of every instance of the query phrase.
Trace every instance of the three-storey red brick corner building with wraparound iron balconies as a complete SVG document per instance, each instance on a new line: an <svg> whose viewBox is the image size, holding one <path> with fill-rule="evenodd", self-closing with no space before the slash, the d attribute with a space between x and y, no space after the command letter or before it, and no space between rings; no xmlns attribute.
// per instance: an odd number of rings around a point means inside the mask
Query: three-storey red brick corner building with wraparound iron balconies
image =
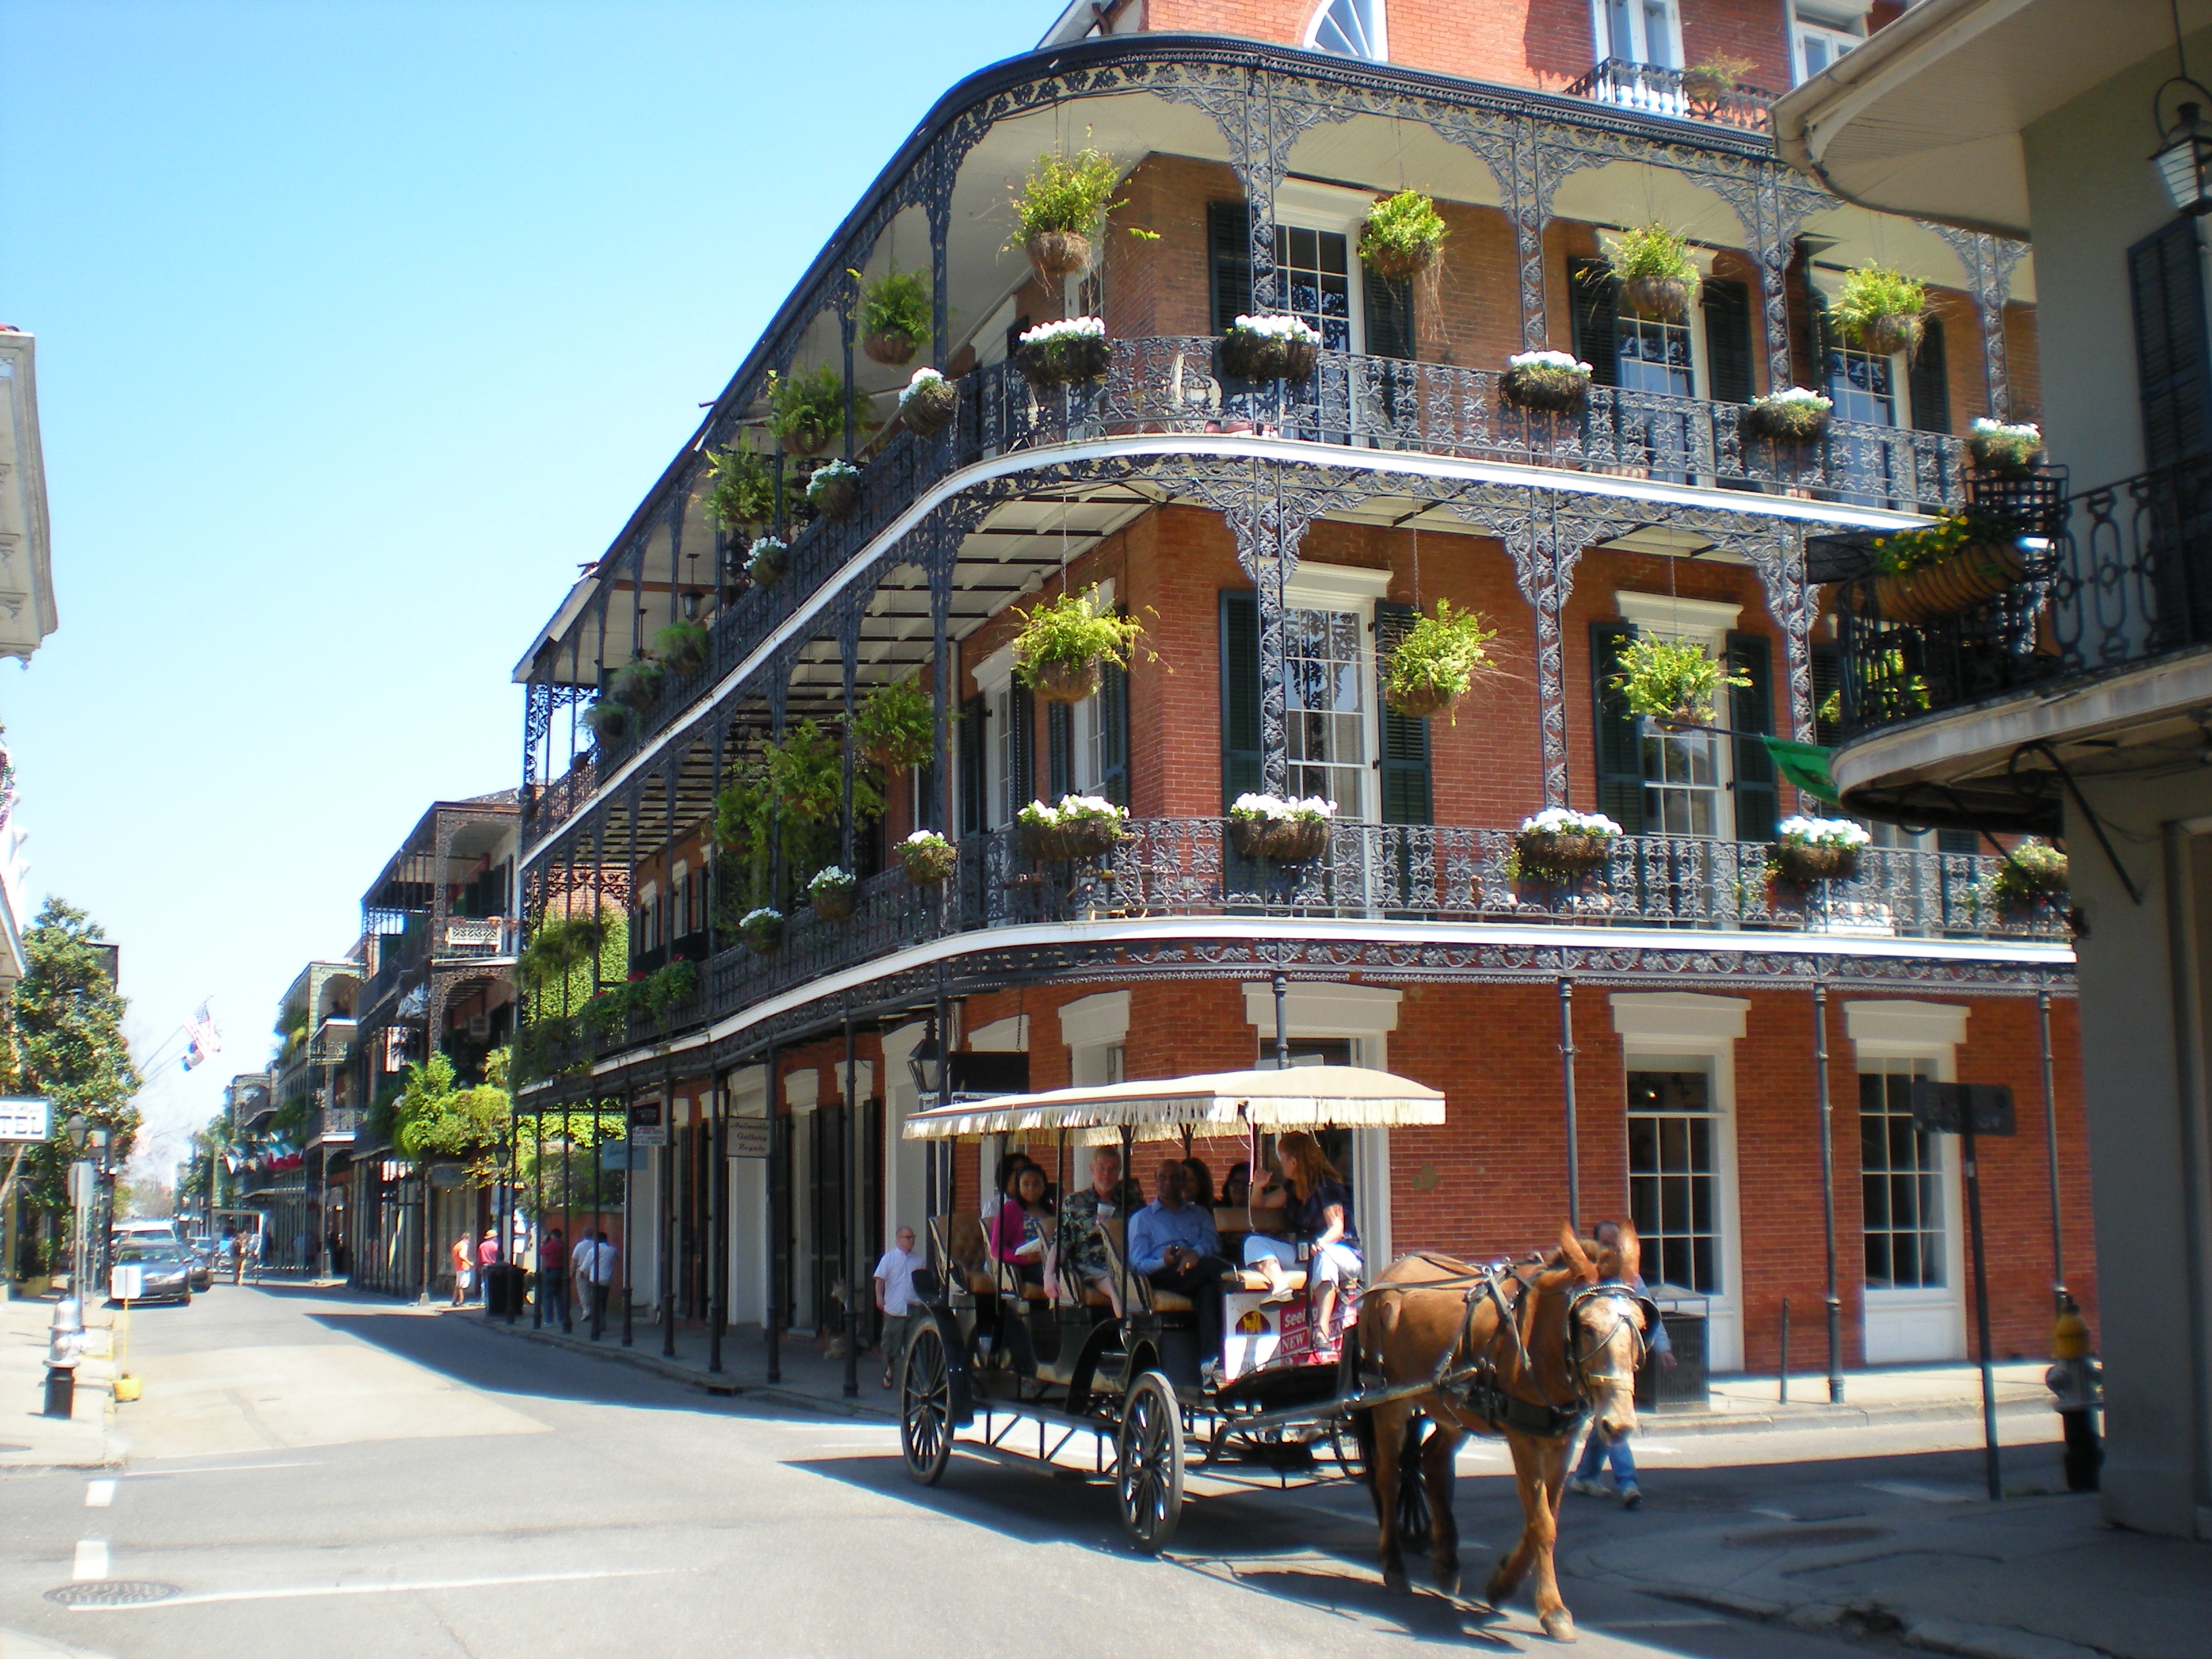
<svg viewBox="0 0 2212 1659"><path fill-rule="evenodd" d="M1823 739L1823 549L1958 507L1966 425L2035 398L2024 248L1867 215L1772 157L1763 88L1880 22L1809 0L1126 0L940 100L518 670L533 925L597 909L635 975L591 998L540 980L520 1110L622 1099L666 1126L633 1148L641 1307L812 1329L891 1225L973 1208L973 1155L931 1192L898 1137L940 1037L1026 1057L956 1062L956 1084L1252 1066L1279 975L1294 1060L1449 1097L1444 1128L1340 1148L1371 1259L1557 1234L1571 1048L1579 1219L1635 1214L1721 1369L1774 1365L1785 1296L1801 1363L1827 1358L1816 1000L1845 1360L1966 1352L1958 1155L1913 1130L1913 1077L2015 1091L2022 1135L1982 1170L1995 1329L2042 1352L2046 1011L2066 1276L2093 1301L2055 909L2004 909L1986 845L1907 830L1849 878L1767 876L1778 818L1823 810L1761 741ZM1084 144L1115 206L1088 263L1044 279L1006 252L1006 192ZM1358 252L1398 190L1449 232L1409 281ZM1604 265L1650 223L1697 265L1674 316ZM1827 325L1865 261L1927 283L1916 354ZM896 272L922 274L929 327L889 363L869 332ZM1219 336L1243 314L1301 316L1314 372L1234 376ZM1020 334L1062 316L1097 316L1113 363L1033 385ZM1579 409L1509 396L1506 358L1546 347L1590 365ZM951 378L942 429L898 403L916 365ZM776 385L825 372L874 416L836 520L799 507L818 434L770 436ZM1832 398L1825 436L1747 431L1792 385ZM781 480L759 524L714 493L745 449ZM787 551L761 564L754 533ZM1046 706L1015 672L1018 611L1091 588L1146 648ZM1449 714L1391 712L1389 653L1440 599L1498 630L1498 672ZM1637 635L1730 664L1710 730L1628 714ZM854 710L902 681L931 759L847 763ZM770 754L834 779L838 810L799 812L790 783L763 807ZM1321 858L1230 847L1228 805L1263 787L1336 801ZM1018 812L1062 794L1119 803L1119 845L1035 856ZM1515 832L1555 805L1621 823L1601 869L1522 867ZM916 827L958 847L945 885L902 867ZM805 900L830 863L858 876L849 918ZM772 947L745 942L757 909Z"/></svg>

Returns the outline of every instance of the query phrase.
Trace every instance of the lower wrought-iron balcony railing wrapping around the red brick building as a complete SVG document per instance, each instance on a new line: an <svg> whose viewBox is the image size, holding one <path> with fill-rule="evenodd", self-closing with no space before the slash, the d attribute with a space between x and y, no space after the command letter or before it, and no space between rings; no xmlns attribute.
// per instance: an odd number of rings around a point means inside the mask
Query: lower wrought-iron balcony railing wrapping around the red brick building
<svg viewBox="0 0 2212 1659"><path fill-rule="evenodd" d="M2055 909L1995 902L2000 863L1869 847L1849 880L1790 887L1770 880L1765 843L1621 836L1604 869L1535 880L1517 872L1511 830L1340 823L1329 852L1310 865L1243 858L1221 818L1130 818L1128 836L1095 865L1037 863L1022 856L1013 830L998 830L962 843L960 872L945 887L883 872L860 887L849 922L801 909L774 953L719 951L684 1006L635 1013L619 1029L538 1022L524 1031L522 1060L529 1075L544 1075L933 938L1035 922L1272 916L2064 942Z"/></svg>

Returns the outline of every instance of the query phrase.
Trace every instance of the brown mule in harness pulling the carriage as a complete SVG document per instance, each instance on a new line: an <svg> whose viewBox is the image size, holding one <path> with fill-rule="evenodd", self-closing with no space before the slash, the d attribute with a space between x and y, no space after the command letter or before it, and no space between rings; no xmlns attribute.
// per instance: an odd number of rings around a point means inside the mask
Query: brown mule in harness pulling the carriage
<svg viewBox="0 0 2212 1659"><path fill-rule="evenodd" d="M1619 1250L1584 1243L1564 1228L1559 1250L1535 1267L1493 1276L1451 1256L1418 1254L1400 1256L1367 1285L1358 1323L1363 1374L1369 1387L1413 1389L1367 1409L1358 1425L1380 1526L1383 1582L1391 1590L1407 1588L1398 1464L1407 1420L1418 1411L1436 1425L1420 1449L1420 1480L1429 1493L1438 1586L1447 1595L1460 1588L1460 1531L1451 1517L1460 1440L1502 1436L1513 1451L1524 1526L1484 1599L1502 1606L1535 1568L1544 1635L1575 1639L1575 1619L1553 1571L1559 1493L1584 1416L1595 1416L1608 1436L1637 1427L1635 1371L1650 1305L1628 1290L1615 1292L1610 1281L1632 1283L1639 1263L1632 1225L1621 1225ZM1431 1387L1413 1387L1420 1383Z"/></svg>

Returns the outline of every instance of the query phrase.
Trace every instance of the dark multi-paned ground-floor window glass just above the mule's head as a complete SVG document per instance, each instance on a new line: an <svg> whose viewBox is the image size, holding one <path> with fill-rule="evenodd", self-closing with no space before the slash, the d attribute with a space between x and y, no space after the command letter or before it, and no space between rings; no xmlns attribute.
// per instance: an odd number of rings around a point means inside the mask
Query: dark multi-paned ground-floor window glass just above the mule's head
<svg viewBox="0 0 2212 1659"><path fill-rule="evenodd" d="M1628 1073L1628 1214L1644 1239L1644 1276L1721 1294L1721 1194L1712 1077Z"/></svg>

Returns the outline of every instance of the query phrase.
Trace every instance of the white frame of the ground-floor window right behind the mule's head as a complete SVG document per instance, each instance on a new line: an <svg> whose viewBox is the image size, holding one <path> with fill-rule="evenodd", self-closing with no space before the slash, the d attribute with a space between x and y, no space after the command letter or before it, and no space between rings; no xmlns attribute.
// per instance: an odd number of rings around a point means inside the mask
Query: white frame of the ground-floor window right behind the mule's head
<svg viewBox="0 0 2212 1659"><path fill-rule="evenodd" d="M1621 1159L1628 1157L1626 1088L1630 1071L1679 1071L1703 1060L1712 1079L1712 1172L1719 1203L1721 1290L1705 1303L1705 1363L1712 1371L1743 1369L1743 1210L1736 1197L1736 1044L1750 998L1699 991L1615 991L1613 1031L1621 1040ZM1595 1221L1595 1217L1579 1217Z"/></svg>

